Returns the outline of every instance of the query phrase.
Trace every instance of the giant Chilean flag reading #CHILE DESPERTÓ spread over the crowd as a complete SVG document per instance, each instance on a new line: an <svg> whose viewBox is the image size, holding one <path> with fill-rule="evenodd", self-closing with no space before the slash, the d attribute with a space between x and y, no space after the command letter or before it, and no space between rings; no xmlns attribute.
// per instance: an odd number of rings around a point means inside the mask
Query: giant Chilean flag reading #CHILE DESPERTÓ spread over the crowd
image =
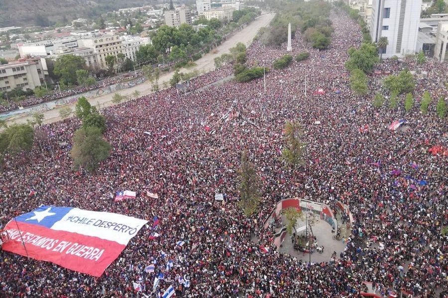
<svg viewBox="0 0 448 298"><path fill-rule="evenodd" d="M146 223L109 212L41 206L6 224L10 240L3 250L101 276Z"/></svg>

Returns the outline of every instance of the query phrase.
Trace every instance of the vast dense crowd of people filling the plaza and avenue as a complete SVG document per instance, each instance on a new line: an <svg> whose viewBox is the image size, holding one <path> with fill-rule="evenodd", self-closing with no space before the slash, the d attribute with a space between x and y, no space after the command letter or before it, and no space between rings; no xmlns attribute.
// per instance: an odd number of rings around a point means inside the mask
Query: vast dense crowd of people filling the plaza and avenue
<svg viewBox="0 0 448 298"><path fill-rule="evenodd" d="M2 225L41 204L115 212L149 223L98 279L2 251L2 295L161 297L172 285L176 297L339 298L360 297L362 283L373 282L384 297L400 289L414 297L444 297L447 155L430 149L448 148L447 121L435 113L436 99L448 96L439 80L447 66L433 60L422 66L383 61L378 69L420 69L428 75L416 77L410 112L402 103L375 108L373 94L385 91L371 79L368 95L354 95L343 66L347 49L360 45L361 32L342 11L333 11L331 18L330 48L313 49L297 32L292 54L307 51L309 59L283 70L270 67L266 93L263 78L229 81L186 95L170 88L103 110L105 139L113 149L96 174L72 169L77 118L41 127L48 135L43 150L36 145L4 165ZM264 47L258 39L247 50L248 64L271 66L285 49ZM195 83L210 81L206 74ZM325 94L315 92L320 88ZM427 115L418 108L425 90L433 98ZM406 127L388 130L403 118ZM306 143L306 163L295 169L278 158L288 120L301 124ZM290 197L337 200L350 208L352 235L343 253L325 263L307 263L277 252L273 231L262 228L259 213L247 218L238 207L243 150L260 177L263 215ZM137 198L114 202L115 192L124 189L136 191ZM29 196L30 190L36 195ZM216 193L224 194L223 202L215 200ZM160 236L150 239L154 216ZM185 244L177 245L179 240ZM174 267L166 270L169 260ZM155 272L145 273L149 264ZM160 272L165 278L154 288ZM180 279L190 281L189 287ZM144 291L137 293L133 282Z"/></svg>

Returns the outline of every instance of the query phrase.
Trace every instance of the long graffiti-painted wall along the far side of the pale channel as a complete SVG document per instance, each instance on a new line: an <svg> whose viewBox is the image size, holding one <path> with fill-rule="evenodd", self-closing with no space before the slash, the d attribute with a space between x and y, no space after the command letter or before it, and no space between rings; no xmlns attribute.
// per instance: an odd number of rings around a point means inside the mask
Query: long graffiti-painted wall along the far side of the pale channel
<svg viewBox="0 0 448 298"><path fill-rule="evenodd" d="M64 98L59 98L59 99L48 101L48 102L44 102L44 103L41 103L41 104L38 104L38 105L26 107L26 108L23 108L21 110L14 110L14 111L1 113L0 114L0 119L1 120L7 120L7 119L10 119L12 117L21 115L21 114L49 111L49 110L52 110L52 109L60 107L60 106L64 106L64 105L71 104L71 103L75 103L75 102L78 101L78 98L80 98L81 96L84 96L87 99L89 99L89 98L97 97L97 96L100 96L100 95L103 95L103 94L109 94L109 93L116 92L118 90L134 87L135 85L141 84L145 80L146 80L145 76L140 76L140 77L134 78L132 80L129 80L127 82L120 82L120 83L116 83L116 84L109 85L109 86L106 86L106 87L101 87L101 88L98 88L98 89L86 91L86 92L83 92L83 93L70 95L70 96L67 96L67 97L64 97Z"/></svg>

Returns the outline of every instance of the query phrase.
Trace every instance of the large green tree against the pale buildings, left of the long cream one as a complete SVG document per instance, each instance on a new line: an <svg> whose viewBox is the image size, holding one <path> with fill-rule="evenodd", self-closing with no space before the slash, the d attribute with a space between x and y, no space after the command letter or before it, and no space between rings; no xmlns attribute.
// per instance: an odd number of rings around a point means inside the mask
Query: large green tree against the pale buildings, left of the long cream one
<svg viewBox="0 0 448 298"><path fill-rule="evenodd" d="M82 57L75 55L63 55L56 59L53 73L57 75L64 84L76 84L76 71L84 68L86 62Z"/></svg>

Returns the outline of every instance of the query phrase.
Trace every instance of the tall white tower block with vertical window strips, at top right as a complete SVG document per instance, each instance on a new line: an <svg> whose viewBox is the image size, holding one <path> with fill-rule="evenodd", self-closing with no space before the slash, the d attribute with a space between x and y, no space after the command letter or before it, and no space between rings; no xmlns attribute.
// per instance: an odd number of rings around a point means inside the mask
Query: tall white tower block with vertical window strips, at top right
<svg viewBox="0 0 448 298"><path fill-rule="evenodd" d="M373 0L370 35L387 37L383 58L415 54L421 8L422 0Z"/></svg>

